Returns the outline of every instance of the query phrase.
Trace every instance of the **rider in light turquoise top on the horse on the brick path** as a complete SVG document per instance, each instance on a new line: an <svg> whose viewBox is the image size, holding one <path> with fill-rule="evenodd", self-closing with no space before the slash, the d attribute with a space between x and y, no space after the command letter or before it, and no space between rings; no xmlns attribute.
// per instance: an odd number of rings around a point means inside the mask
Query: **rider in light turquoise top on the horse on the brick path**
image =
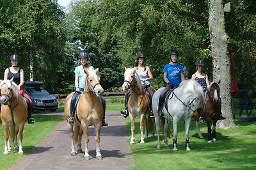
<svg viewBox="0 0 256 170"><path fill-rule="evenodd" d="M70 117L68 118L68 124L74 125L74 108L76 104L76 97L78 94L81 94L85 88L85 73L84 73L84 67L91 67L94 69L92 66L90 66L87 62L89 60L89 57L85 51L81 51L79 53L79 59L81 62L80 66L77 66L75 69L75 87L76 87L76 92L72 96L71 102L70 102ZM102 120L102 126L108 126L106 120L105 120L105 112L106 112L106 100L100 96L100 100L103 104L103 120Z"/></svg>

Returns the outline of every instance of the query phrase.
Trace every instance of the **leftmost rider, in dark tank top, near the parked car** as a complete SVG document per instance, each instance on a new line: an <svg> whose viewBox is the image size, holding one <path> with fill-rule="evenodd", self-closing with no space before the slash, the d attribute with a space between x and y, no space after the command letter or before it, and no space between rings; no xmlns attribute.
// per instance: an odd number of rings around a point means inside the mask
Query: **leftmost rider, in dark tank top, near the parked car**
<svg viewBox="0 0 256 170"><path fill-rule="evenodd" d="M13 54L10 56L10 60L12 63L11 67L8 67L4 71L4 80L10 80L13 78L13 81L18 85L20 94L26 100L28 104L28 124L34 124L35 120L31 118L32 115L32 106L33 102L31 101L30 97L26 92L22 89L22 85L24 85L24 71L22 68L18 66L19 64L19 55Z"/></svg>

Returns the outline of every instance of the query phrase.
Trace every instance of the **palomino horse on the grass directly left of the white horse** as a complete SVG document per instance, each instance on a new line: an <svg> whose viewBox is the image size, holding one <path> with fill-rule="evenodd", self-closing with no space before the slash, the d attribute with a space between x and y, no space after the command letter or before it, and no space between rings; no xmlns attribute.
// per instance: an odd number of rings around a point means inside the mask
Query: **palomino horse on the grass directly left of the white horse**
<svg viewBox="0 0 256 170"><path fill-rule="evenodd" d="M145 124L145 138L148 137L148 131L152 132L154 136L154 118L149 117L148 99L145 90L141 85L140 76L136 73L136 67L126 68L124 73L123 90L130 90L131 96L129 97L127 106L129 117L131 119L131 144L134 144L134 129L135 118L140 118L140 143L145 143L143 138L143 127Z"/></svg>

